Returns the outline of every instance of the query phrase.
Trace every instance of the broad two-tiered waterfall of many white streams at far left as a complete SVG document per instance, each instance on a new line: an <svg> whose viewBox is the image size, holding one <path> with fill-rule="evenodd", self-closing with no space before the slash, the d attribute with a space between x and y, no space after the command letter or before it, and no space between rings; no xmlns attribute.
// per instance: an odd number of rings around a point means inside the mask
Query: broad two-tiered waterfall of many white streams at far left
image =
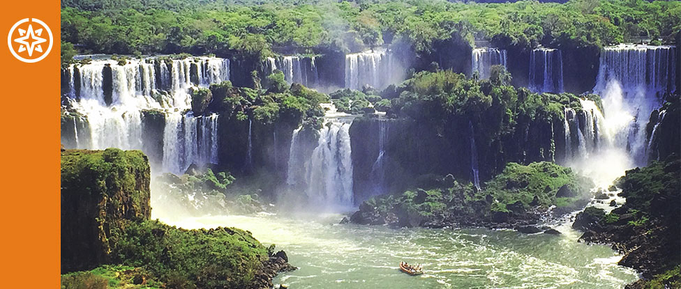
<svg viewBox="0 0 681 289"><path fill-rule="evenodd" d="M107 59L70 65L69 106L85 116L89 127L89 134L75 137L90 138L73 143L76 148L150 150L154 146L142 146L142 111L154 110L166 118L163 171L180 173L192 162L216 163L218 116L194 117L179 111L190 108L189 88L228 80L229 68L228 59L215 57L130 59L124 65Z"/></svg>

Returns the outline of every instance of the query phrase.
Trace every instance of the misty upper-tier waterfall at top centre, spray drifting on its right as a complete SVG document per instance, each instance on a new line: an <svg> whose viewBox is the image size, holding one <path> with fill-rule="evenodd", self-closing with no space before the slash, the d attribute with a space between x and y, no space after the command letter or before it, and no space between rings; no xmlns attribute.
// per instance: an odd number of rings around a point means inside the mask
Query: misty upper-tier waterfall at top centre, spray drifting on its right
<svg viewBox="0 0 681 289"><path fill-rule="evenodd" d="M403 69L385 50L345 55L345 88L361 90L368 84L383 89L404 80Z"/></svg>

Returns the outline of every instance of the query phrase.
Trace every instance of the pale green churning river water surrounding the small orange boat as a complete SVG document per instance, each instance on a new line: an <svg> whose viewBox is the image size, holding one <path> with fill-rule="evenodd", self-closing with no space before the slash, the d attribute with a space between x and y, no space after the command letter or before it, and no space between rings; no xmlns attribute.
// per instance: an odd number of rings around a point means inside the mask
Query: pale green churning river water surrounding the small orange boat
<svg viewBox="0 0 681 289"><path fill-rule="evenodd" d="M158 217L158 216L157 216ZM562 235L526 235L484 228L391 229L337 224L338 214L256 214L163 218L183 228L233 226L287 252L300 269L275 284L302 288L623 288L638 277L617 265L604 245L578 243L567 224ZM424 265L408 276L398 263Z"/></svg>

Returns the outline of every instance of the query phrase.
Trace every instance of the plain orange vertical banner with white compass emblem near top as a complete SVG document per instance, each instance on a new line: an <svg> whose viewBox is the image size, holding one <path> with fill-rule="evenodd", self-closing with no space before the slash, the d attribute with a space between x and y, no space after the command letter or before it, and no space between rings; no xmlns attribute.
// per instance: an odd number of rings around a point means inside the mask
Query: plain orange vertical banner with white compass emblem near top
<svg viewBox="0 0 681 289"><path fill-rule="evenodd" d="M59 288L60 5L0 10L2 288Z"/></svg>

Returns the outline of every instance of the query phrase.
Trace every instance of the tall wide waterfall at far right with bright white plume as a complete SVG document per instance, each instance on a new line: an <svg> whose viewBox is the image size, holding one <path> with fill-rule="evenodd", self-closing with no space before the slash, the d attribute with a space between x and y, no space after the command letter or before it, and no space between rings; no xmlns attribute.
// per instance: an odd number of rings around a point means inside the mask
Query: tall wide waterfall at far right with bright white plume
<svg viewBox="0 0 681 289"><path fill-rule="evenodd" d="M609 127L613 145L627 151L631 166L648 163L645 127L663 94L675 89L675 49L618 45L601 52L594 93L603 97L607 122L617 124Z"/></svg>

